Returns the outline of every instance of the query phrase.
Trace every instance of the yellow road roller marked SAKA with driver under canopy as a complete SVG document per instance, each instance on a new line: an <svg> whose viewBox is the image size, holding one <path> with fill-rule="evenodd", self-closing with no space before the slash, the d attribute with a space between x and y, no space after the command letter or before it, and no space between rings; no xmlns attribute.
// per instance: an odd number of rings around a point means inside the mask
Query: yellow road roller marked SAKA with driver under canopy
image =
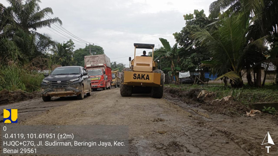
<svg viewBox="0 0 278 156"><path fill-rule="evenodd" d="M136 49L152 49L152 57L136 56ZM132 94L150 94L154 98L162 98L164 73L156 69L154 61L154 44L134 43L134 59L129 57L130 67L124 68L121 76L121 96Z"/></svg>

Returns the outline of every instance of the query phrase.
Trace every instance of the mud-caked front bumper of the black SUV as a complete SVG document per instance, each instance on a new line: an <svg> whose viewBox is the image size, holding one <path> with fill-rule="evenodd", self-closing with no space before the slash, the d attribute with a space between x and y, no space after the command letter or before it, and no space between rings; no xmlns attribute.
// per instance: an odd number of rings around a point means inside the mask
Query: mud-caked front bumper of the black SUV
<svg viewBox="0 0 278 156"><path fill-rule="evenodd" d="M72 95L79 95L82 93L81 90L82 84L79 83L72 83L68 87L65 88L51 88L46 83L40 84L40 95L41 96L72 96Z"/></svg>

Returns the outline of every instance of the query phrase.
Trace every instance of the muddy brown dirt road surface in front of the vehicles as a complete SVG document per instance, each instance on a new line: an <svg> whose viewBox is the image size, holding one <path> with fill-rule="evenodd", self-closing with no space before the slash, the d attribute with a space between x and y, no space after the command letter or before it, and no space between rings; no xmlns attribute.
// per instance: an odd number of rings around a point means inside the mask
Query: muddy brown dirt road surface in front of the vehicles
<svg viewBox="0 0 278 156"><path fill-rule="evenodd" d="M162 99L121 97L112 88L83 100L33 99L0 108L7 107L19 109L19 124L128 125L129 155L278 155L275 121L212 114L168 93ZM261 145L267 131L275 143L269 154Z"/></svg>

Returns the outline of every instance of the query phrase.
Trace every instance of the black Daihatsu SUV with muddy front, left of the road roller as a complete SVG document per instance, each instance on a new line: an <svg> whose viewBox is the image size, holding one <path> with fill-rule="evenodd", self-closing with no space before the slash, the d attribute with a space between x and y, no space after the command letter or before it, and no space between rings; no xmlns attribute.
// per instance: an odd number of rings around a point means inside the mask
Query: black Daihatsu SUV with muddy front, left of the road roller
<svg viewBox="0 0 278 156"><path fill-rule="evenodd" d="M81 66L58 67L44 76L40 84L44 101L50 101L52 96L77 95L78 99L83 99L84 94L91 96L91 80L86 69Z"/></svg>

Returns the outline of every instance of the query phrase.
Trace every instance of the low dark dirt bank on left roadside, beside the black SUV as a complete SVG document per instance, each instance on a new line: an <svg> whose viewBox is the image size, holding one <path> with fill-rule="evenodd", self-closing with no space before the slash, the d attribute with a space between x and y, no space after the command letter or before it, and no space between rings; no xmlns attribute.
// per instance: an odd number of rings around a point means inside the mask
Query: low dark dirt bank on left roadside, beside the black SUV
<svg viewBox="0 0 278 156"><path fill-rule="evenodd" d="M0 105L25 101L28 99L34 99L39 97L40 97L39 92L28 93L28 92L23 92L22 90L17 90L14 92L10 92L8 90L2 90L0 92Z"/></svg>

